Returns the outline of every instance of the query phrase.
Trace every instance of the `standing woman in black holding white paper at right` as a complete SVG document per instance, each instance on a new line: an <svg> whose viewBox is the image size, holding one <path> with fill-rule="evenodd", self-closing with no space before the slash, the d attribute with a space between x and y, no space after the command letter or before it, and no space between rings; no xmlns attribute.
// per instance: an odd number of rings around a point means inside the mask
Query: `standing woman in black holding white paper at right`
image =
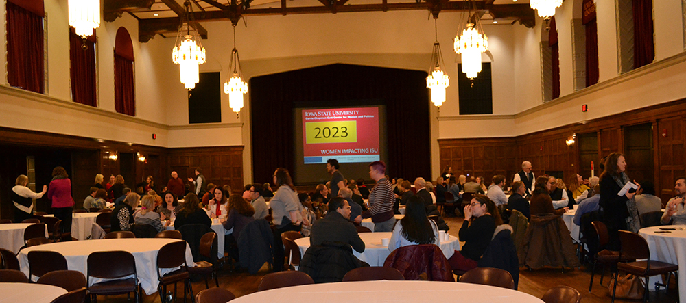
<svg viewBox="0 0 686 303"><path fill-rule="evenodd" d="M626 229L626 218L629 211L626 202L633 198L636 192L626 192L619 196L619 191L630 182L624 172L626 161L622 153L611 153L605 159L605 170L600 174L600 201L598 204L604 209L602 221L607 226L610 242L608 250L619 250L619 230Z"/></svg>

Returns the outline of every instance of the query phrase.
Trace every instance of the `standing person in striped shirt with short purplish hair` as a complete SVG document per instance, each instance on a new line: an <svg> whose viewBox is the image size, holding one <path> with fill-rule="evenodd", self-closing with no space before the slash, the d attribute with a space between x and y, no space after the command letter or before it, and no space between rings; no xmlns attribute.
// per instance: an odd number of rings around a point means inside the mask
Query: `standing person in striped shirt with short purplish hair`
<svg viewBox="0 0 686 303"><path fill-rule="evenodd" d="M362 218L372 218L375 232L390 232L395 225L393 187L386 178L386 163L374 161L369 164L369 176L377 181L369 194L369 209Z"/></svg>

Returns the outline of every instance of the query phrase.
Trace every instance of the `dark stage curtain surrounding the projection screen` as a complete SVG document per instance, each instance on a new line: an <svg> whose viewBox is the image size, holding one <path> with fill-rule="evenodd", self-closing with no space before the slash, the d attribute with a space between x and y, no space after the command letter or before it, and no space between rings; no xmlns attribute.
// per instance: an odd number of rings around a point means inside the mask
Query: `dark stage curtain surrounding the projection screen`
<svg viewBox="0 0 686 303"><path fill-rule="evenodd" d="M392 176L431 179L427 73L333 64L250 79L252 168L255 181L272 181L294 168L294 105L386 104L388 170Z"/></svg>

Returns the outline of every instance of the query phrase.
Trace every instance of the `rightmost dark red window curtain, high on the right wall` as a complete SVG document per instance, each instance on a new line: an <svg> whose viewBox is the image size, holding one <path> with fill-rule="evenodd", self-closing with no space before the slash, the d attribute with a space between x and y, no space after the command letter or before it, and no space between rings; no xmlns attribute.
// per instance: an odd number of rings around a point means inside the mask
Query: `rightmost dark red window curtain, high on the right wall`
<svg viewBox="0 0 686 303"><path fill-rule="evenodd" d="M655 44L652 40L652 0L633 0L634 68L652 63Z"/></svg>

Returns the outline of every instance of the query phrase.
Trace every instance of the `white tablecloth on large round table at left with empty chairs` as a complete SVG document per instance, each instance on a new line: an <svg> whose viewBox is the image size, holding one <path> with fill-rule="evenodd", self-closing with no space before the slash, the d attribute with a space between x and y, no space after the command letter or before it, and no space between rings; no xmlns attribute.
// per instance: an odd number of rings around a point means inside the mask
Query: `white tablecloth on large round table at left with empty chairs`
<svg viewBox="0 0 686 303"><path fill-rule="evenodd" d="M157 291L156 264L157 252L167 243L179 241L177 239L99 239L91 241L68 241L32 246L21 250L19 254L19 264L21 271L29 276L28 252L32 250L49 250L59 252L67 259L67 267L70 270L78 270L84 276L87 272L88 254L91 252L105 252L109 250L124 250L133 254L136 259L136 272L138 280L141 282L143 291L152 295ZM186 245L186 263L193 266L193 255L191 248ZM92 282L95 279L91 279Z"/></svg>

